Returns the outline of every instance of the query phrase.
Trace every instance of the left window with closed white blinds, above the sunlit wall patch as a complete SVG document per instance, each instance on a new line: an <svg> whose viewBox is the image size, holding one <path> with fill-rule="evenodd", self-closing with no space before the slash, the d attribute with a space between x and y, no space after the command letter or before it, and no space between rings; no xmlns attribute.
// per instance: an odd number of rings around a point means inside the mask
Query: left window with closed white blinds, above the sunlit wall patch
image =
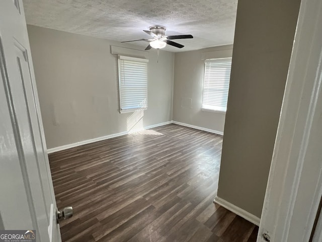
<svg viewBox="0 0 322 242"><path fill-rule="evenodd" d="M118 56L120 112L147 108L148 59Z"/></svg>

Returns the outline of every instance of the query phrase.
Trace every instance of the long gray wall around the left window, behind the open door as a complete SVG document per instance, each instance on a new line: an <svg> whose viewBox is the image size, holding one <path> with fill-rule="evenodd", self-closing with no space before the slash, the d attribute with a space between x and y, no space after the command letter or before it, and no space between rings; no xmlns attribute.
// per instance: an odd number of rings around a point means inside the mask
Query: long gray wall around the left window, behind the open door
<svg viewBox="0 0 322 242"><path fill-rule="evenodd" d="M48 148L129 129L133 113L118 112L117 56L110 45L132 45L30 25L28 33ZM173 70L174 53L160 51L157 63L150 51L144 127L172 120Z"/></svg>

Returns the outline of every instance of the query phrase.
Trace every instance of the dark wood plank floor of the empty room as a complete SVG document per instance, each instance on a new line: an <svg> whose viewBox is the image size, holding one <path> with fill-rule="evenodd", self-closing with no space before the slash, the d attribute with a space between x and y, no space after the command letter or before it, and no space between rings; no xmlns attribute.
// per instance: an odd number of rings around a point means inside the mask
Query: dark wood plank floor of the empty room
<svg viewBox="0 0 322 242"><path fill-rule="evenodd" d="M167 125L49 155L63 241L256 241L214 204L222 137Z"/></svg>

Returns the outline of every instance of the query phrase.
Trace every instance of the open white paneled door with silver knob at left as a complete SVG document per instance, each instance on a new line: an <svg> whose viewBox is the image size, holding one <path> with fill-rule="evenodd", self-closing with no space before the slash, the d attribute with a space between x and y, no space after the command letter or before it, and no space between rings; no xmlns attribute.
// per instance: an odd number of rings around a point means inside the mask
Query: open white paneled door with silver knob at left
<svg viewBox="0 0 322 242"><path fill-rule="evenodd" d="M0 1L0 74L0 229L61 241L22 0Z"/></svg>

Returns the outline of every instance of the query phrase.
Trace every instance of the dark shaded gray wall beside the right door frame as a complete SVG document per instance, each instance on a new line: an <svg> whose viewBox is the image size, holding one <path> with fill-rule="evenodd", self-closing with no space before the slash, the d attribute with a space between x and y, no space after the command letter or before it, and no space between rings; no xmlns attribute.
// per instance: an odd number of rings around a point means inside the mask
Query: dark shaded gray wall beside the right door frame
<svg viewBox="0 0 322 242"><path fill-rule="evenodd" d="M300 1L238 1L218 197L261 217Z"/></svg>

